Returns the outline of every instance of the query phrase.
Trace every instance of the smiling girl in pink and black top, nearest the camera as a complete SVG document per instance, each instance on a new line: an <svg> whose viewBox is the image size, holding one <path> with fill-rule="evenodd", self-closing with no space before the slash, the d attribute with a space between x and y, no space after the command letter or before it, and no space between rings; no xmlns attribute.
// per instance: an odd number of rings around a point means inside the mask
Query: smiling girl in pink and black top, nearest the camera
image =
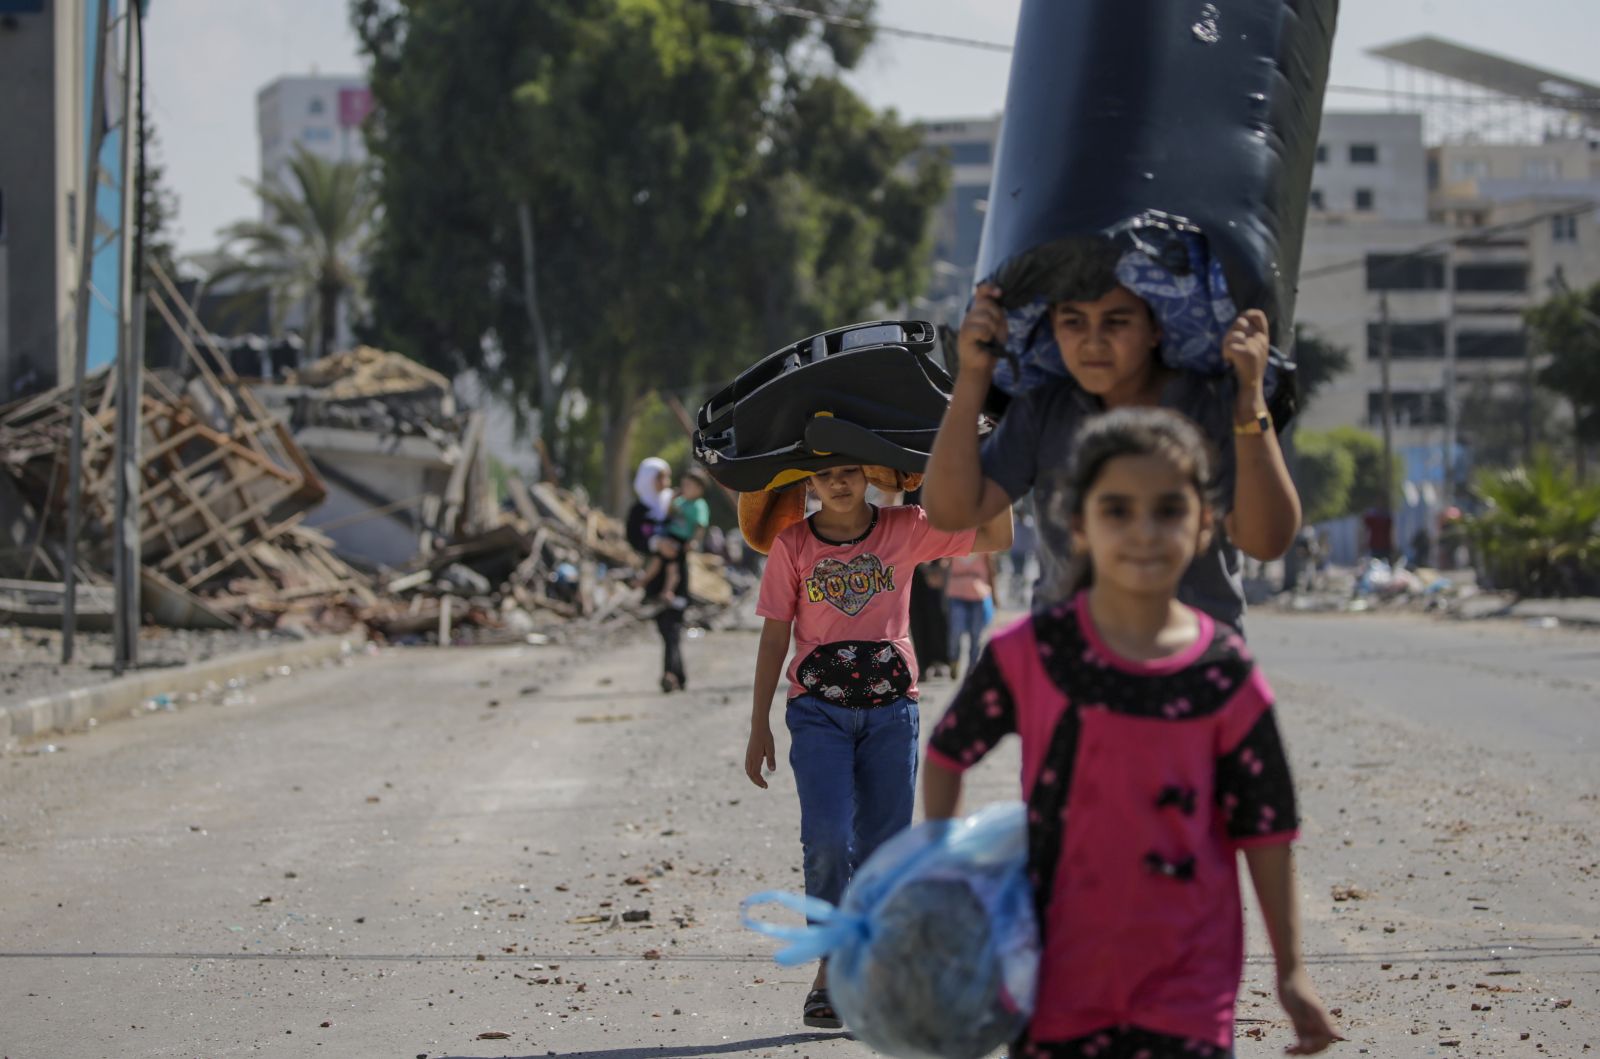
<svg viewBox="0 0 1600 1059"><path fill-rule="evenodd" d="M1243 851L1294 1024L1290 1054L1338 1033L1299 952L1294 789L1272 689L1238 633L1178 601L1213 528L1198 432L1122 410L1078 435L1067 518L1085 557L1069 601L997 633L934 729L930 817L962 773L1022 739L1038 1001L1013 1054L1230 1054L1243 971Z"/></svg>

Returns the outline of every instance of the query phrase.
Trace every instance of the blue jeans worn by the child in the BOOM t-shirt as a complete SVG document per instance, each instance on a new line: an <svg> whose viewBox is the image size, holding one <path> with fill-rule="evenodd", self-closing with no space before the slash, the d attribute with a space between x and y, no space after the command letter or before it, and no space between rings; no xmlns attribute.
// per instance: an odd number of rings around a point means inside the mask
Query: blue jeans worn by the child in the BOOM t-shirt
<svg viewBox="0 0 1600 1059"><path fill-rule="evenodd" d="M789 768L800 790L805 893L838 904L856 869L910 827L917 793L915 699L858 710L789 699Z"/></svg>

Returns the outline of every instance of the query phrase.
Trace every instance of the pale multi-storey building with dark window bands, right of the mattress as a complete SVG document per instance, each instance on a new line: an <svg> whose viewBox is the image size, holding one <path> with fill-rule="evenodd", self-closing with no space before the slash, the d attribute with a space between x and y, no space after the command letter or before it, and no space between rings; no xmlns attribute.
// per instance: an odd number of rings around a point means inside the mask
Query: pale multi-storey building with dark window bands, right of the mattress
<svg viewBox="0 0 1600 1059"><path fill-rule="evenodd" d="M1381 138L1384 131L1392 136ZM1600 181L1552 176L1530 186L1510 178L1526 171L1530 158L1576 168L1570 160L1584 152L1570 144L1426 150L1421 134L1419 115L1325 115L1318 157L1326 162L1312 178L1298 302L1298 322L1349 349L1352 362L1346 378L1317 395L1304 422L1376 430L1387 294L1397 448L1442 443L1451 382L1456 398L1485 376L1523 386L1526 358L1539 355L1528 346L1523 312L1544 301L1555 280L1574 288L1600 282ZM1349 152L1365 146L1376 147L1378 160L1360 163L1371 168L1352 182ZM1474 166L1482 160L1483 168L1472 170L1482 179L1440 179L1461 158ZM1357 205L1363 189L1371 192L1360 198L1368 208ZM1470 426L1462 424L1462 442L1470 442Z"/></svg>

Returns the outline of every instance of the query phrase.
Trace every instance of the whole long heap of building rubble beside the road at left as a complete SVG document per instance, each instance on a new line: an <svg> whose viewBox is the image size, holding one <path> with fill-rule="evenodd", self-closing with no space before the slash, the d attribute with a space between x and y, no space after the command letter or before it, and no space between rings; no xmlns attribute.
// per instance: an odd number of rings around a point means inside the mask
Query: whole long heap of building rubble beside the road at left
<svg viewBox="0 0 1600 1059"><path fill-rule="evenodd" d="M554 485L490 474L485 419L445 376L370 347L286 384L251 384L181 336L182 371L146 371L139 408L141 605L173 627L365 625L387 640L493 641L638 614L622 525ZM109 622L107 371L85 381L80 613ZM59 627L69 387L0 408L0 614ZM691 595L726 605L720 560ZM86 605L86 606L85 606Z"/></svg>

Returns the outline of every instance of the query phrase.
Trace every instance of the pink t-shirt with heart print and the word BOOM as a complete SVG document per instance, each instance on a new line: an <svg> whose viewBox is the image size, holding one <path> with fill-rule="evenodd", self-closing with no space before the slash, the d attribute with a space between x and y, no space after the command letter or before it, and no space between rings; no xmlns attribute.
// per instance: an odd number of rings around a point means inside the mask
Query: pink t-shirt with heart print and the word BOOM
<svg viewBox="0 0 1600 1059"><path fill-rule="evenodd" d="M856 541L824 541L806 518L773 541L755 613L794 622L789 697L826 694L802 683L800 665L827 643L888 643L910 673L917 696L917 654L910 645L910 576L917 563L966 555L976 530L946 533L928 525L922 507L878 507Z"/></svg>

